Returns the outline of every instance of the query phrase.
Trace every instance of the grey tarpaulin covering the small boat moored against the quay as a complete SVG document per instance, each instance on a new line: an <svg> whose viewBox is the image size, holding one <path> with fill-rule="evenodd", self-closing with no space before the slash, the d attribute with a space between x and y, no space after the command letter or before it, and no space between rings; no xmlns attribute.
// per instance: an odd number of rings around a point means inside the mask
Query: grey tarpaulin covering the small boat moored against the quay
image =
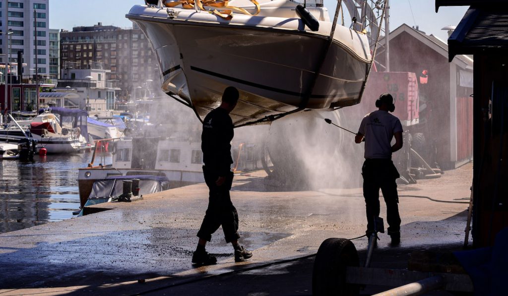
<svg viewBox="0 0 508 296"><path fill-rule="evenodd" d="M169 180L161 176L117 176L93 182L88 198L119 196L123 193L123 180L139 180L139 194L149 194L169 189Z"/></svg>

